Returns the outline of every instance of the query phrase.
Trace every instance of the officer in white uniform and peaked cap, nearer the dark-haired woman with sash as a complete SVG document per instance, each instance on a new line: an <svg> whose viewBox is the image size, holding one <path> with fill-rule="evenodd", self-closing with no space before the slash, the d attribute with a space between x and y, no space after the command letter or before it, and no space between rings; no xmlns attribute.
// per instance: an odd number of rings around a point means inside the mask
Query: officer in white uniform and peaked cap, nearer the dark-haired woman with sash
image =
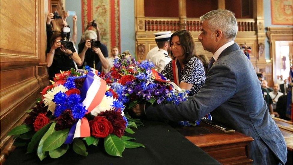
<svg viewBox="0 0 293 165"><path fill-rule="evenodd" d="M171 61L168 56L170 53L170 37L173 33L160 35L155 37L156 43L159 47L157 53L150 55L150 61L153 62L155 69L161 73L165 66Z"/></svg>

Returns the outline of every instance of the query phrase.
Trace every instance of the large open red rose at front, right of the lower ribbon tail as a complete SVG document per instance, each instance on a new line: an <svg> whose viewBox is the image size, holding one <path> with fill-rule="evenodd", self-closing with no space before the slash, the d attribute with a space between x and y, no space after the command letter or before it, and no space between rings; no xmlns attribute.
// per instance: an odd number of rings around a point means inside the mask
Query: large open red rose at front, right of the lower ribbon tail
<svg viewBox="0 0 293 165"><path fill-rule="evenodd" d="M113 132L113 126L106 118L96 116L94 120L89 121L92 130L92 135L97 138L107 137Z"/></svg>

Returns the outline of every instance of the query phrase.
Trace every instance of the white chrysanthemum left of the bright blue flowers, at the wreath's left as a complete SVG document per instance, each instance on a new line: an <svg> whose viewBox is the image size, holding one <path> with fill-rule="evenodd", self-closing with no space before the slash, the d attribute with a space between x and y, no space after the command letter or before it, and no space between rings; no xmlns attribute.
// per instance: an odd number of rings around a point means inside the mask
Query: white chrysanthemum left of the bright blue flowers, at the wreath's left
<svg viewBox="0 0 293 165"><path fill-rule="evenodd" d="M44 95L44 103L45 106L48 105L48 111L51 111L54 114L56 104L52 100L54 99L54 96L58 92L66 92L68 89L64 87L63 85L58 85L57 87L54 87L51 89L51 91L48 91L47 94Z"/></svg>

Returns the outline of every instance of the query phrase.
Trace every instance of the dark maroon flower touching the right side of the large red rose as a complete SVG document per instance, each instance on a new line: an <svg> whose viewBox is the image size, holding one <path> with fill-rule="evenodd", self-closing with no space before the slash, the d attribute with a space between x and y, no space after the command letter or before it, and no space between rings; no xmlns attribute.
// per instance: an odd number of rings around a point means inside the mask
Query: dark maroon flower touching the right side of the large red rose
<svg viewBox="0 0 293 165"><path fill-rule="evenodd" d="M126 121L121 115L121 109L101 112L98 116L105 117L113 126L113 133L119 138L124 135Z"/></svg>

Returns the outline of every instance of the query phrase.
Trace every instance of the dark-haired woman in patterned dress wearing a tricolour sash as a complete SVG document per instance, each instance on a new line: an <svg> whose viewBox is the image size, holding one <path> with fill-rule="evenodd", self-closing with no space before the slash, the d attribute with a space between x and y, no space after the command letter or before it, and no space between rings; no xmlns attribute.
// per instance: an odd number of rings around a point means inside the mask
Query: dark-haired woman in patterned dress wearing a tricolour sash
<svg viewBox="0 0 293 165"><path fill-rule="evenodd" d="M189 90L189 96L198 92L205 82L204 66L195 55L195 44L187 30L178 30L170 38L171 57L162 74L180 88Z"/></svg>

